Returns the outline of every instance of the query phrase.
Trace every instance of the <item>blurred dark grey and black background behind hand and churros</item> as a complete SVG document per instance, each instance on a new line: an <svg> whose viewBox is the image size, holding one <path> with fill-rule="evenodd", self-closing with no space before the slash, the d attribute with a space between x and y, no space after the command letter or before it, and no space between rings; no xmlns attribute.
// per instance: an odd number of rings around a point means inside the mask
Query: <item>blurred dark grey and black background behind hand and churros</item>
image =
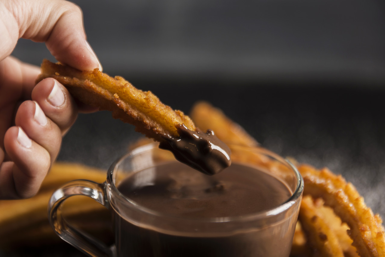
<svg viewBox="0 0 385 257"><path fill-rule="evenodd" d="M211 102L264 147L342 174L385 218L382 0L73 2L105 72L185 113ZM54 61L27 40L13 55ZM108 168L140 136L79 115L59 160Z"/></svg>

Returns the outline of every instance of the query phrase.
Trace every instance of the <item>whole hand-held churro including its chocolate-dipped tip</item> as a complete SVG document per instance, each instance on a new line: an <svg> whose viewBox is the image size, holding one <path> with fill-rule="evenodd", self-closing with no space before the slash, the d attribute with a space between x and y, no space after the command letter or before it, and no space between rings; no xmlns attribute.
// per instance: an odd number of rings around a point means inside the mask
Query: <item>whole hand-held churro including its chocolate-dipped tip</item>
<svg viewBox="0 0 385 257"><path fill-rule="evenodd" d="M78 100L112 111L114 118L136 127L136 131L159 141L159 147L205 174L213 175L230 166L230 149L212 131L197 130L181 111L163 104L150 91L136 89L122 77L100 72L78 71L44 60L36 82L52 77Z"/></svg>

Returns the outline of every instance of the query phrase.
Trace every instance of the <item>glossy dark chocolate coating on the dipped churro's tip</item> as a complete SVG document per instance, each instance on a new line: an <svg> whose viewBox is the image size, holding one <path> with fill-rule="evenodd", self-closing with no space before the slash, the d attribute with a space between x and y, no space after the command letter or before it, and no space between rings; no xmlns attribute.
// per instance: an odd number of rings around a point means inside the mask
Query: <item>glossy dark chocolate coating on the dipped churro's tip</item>
<svg viewBox="0 0 385 257"><path fill-rule="evenodd" d="M177 127L179 138L164 135L159 148L171 151L175 158L206 175L214 175L231 165L230 149L210 129L206 133Z"/></svg>

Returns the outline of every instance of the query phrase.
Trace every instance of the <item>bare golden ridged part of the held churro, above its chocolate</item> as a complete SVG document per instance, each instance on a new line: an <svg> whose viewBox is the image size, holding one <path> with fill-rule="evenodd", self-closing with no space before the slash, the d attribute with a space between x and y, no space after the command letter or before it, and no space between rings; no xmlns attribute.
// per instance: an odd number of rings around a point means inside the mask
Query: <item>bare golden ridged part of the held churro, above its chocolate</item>
<svg viewBox="0 0 385 257"><path fill-rule="evenodd" d="M162 135L178 137L177 125L184 124L196 131L192 120L182 111L174 111L152 92L136 89L122 77L110 77L99 69L79 71L43 60L36 83L48 77L67 87L79 101L111 111L114 118L134 125L137 132L156 141L163 141Z"/></svg>

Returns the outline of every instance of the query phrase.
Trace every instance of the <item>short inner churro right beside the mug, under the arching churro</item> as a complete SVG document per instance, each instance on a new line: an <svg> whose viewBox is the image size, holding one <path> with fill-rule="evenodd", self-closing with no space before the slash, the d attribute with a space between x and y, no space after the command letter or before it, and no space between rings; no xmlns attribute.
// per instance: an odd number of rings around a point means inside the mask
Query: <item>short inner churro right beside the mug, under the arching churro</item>
<svg viewBox="0 0 385 257"><path fill-rule="evenodd" d="M334 231L325 222L323 213L319 212L310 196L302 198L298 218L307 235L308 244L311 249L315 249L314 257L344 257Z"/></svg>

